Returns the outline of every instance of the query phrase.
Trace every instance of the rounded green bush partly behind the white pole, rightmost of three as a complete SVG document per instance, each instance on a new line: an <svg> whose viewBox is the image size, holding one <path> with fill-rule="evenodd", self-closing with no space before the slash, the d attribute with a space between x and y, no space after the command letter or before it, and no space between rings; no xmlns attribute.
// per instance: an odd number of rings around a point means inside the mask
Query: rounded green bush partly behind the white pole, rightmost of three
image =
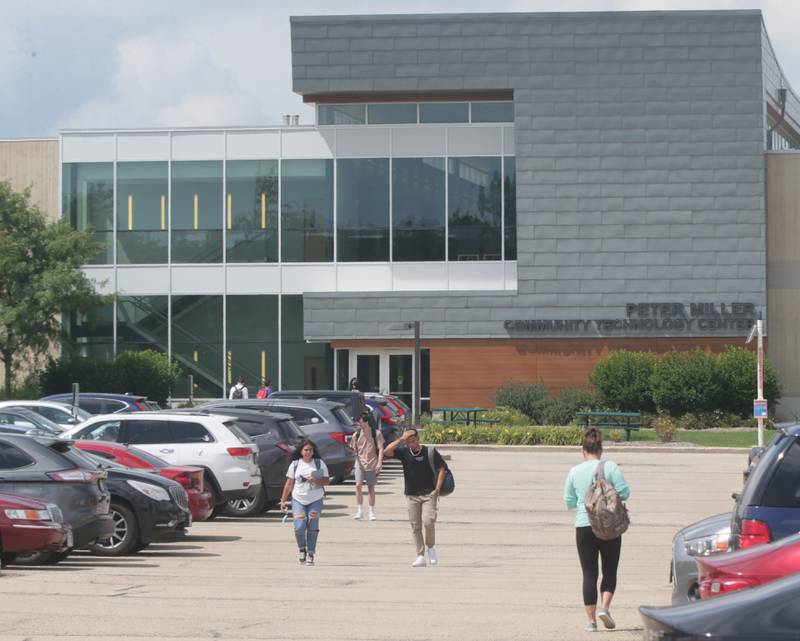
<svg viewBox="0 0 800 641"><path fill-rule="evenodd" d="M744 347L728 347L717 358L721 383L719 407L741 417L753 415L753 399L757 396L756 353ZM778 375L764 359L764 398L770 410L781 396Z"/></svg>

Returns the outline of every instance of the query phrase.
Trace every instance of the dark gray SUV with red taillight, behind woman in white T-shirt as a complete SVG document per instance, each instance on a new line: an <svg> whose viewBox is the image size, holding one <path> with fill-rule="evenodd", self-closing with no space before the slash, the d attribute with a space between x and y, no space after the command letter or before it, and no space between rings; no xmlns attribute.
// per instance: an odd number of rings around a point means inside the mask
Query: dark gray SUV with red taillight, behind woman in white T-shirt
<svg viewBox="0 0 800 641"><path fill-rule="evenodd" d="M232 401L211 401L199 409L214 408L227 412L231 408L280 412L289 414L310 441L317 446L322 460L328 467L333 483L344 481L353 472L355 452L349 446L355 426L350 414L341 403L325 400L275 397ZM195 408L198 409L198 408Z"/></svg>

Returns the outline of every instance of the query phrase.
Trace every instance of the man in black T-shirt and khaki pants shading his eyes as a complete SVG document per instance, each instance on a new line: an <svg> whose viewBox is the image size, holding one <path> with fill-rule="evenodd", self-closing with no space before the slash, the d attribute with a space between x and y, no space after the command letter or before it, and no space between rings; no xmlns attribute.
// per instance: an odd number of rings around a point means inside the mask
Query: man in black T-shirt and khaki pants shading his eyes
<svg viewBox="0 0 800 641"><path fill-rule="evenodd" d="M383 455L385 458L397 458L403 465L408 520L417 547L417 558L411 566L420 568L427 563L437 565L439 557L435 548L436 517L439 511L439 493L447 469L444 459L439 452L433 450L433 461L430 460L430 450L420 443L419 434L414 428L404 431L399 439L390 443Z"/></svg>

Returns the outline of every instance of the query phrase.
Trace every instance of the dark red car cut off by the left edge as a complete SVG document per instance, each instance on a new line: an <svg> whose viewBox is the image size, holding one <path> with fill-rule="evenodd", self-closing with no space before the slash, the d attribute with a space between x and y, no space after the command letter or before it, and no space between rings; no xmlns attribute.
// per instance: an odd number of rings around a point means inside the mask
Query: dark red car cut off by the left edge
<svg viewBox="0 0 800 641"><path fill-rule="evenodd" d="M10 561L19 552L63 552L72 547L72 528L57 505L0 494L0 553Z"/></svg>

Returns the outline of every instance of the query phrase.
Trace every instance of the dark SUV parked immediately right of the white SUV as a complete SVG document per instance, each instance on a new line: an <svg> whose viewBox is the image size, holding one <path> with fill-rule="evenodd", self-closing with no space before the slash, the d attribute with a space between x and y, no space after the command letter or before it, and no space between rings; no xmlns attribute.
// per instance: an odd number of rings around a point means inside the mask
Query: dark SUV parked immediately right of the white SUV
<svg viewBox="0 0 800 641"><path fill-rule="evenodd" d="M236 426L258 445L258 464L261 468L261 491L250 498L228 501L228 516L255 516L273 507L281 498L292 452L306 434L289 414L270 411L224 408L194 408L207 414L224 414L236 419Z"/></svg>

